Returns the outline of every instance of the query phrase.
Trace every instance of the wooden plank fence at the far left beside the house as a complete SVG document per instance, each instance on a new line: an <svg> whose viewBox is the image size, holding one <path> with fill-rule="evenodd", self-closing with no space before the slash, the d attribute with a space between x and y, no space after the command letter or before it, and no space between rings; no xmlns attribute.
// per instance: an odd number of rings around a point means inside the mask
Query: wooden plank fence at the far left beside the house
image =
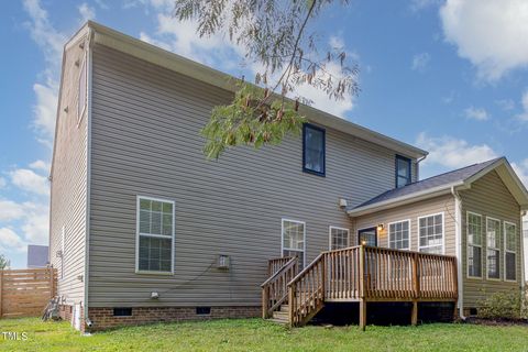
<svg viewBox="0 0 528 352"><path fill-rule="evenodd" d="M0 271L0 318L40 316L56 290L54 268Z"/></svg>

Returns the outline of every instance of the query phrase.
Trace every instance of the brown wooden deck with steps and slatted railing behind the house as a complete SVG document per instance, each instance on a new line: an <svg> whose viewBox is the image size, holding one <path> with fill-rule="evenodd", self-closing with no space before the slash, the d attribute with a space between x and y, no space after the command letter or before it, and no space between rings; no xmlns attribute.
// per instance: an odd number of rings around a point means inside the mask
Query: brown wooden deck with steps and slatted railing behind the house
<svg viewBox="0 0 528 352"><path fill-rule="evenodd" d="M361 245L322 252L296 273L297 258L270 261L270 278L262 284L263 318L302 326L324 302L358 301L364 329L370 301L413 302L416 323L419 301L458 299L454 256Z"/></svg>

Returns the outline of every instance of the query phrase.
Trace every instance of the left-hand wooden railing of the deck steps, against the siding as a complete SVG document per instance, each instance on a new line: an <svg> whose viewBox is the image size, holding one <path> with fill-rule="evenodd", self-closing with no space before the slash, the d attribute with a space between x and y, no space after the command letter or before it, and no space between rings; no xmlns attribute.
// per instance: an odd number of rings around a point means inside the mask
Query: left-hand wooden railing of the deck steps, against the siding
<svg viewBox="0 0 528 352"><path fill-rule="evenodd" d="M282 266L278 266L279 263ZM273 311L288 301L288 283L298 273L297 257L284 257L268 261L268 271L272 273L262 285L262 317L273 316Z"/></svg>

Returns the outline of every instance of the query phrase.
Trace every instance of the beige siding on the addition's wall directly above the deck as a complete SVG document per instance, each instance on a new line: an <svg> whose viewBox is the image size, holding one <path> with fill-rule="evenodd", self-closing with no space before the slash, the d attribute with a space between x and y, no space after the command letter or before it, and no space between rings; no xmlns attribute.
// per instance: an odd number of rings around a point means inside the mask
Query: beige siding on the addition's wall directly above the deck
<svg viewBox="0 0 528 352"><path fill-rule="evenodd" d="M455 255L454 198L451 195L358 217L355 218L355 230L351 237L351 244L358 244L358 230L383 223L384 230L377 235L377 245L388 248L388 223L410 220L410 250L418 251L418 218L439 212L443 212L444 253Z"/></svg>

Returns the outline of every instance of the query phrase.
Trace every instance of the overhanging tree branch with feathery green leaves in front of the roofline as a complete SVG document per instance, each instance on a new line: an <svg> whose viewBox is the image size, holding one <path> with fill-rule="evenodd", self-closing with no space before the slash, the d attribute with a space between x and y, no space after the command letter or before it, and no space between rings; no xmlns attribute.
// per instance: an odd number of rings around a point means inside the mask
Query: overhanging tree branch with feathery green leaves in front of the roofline
<svg viewBox="0 0 528 352"><path fill-rule="evenodd" d="M334 1L176 0L178 20L196 20L200 36L223 33L244 48L245 61L261 67L253 84L244 78L237 81L231 103L213 108L202 130L208 158L218 158L228 147L257 148L298 134L305 122L299 102L311 103L298 95L300 85L337 100L358 94L358 66L345 65L346 54L340 47L320 55L316 33L308 32L310 20ZM339 74L329 69L336 64Z"/></svg>

